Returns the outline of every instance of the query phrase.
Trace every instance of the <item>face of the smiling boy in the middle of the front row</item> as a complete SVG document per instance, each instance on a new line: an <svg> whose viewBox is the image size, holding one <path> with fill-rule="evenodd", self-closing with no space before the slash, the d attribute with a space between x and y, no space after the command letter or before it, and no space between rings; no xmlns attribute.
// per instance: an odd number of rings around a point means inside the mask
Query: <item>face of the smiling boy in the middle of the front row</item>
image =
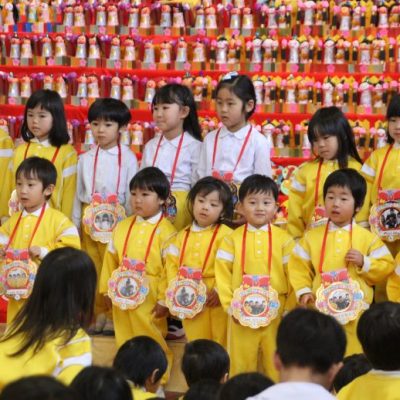
<svg viewBox="0 0 400 400"><path fill-rule="evenodd" d="M250 193L239 203L239 212L256 228L272 222L277 211L278 205L272 193Z"/></svg>

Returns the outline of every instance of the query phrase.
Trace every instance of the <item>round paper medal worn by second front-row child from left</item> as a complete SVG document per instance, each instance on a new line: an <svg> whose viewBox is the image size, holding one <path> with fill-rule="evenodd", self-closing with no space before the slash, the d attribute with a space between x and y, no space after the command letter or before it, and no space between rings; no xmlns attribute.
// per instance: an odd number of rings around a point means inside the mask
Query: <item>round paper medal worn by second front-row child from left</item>
<svg viewBox="0 0 400 400"><path fill-rule="evenodd" d="M148 293L149 283L144 272L119 267L108 281L108 297L121 310L134 310Z"/></svg>

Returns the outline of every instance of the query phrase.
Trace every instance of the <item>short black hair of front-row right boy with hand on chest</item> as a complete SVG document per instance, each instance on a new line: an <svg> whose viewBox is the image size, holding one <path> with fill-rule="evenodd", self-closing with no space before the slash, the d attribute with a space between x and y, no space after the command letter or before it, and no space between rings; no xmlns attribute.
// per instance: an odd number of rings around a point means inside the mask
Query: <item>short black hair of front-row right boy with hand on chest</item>
<svg viewBox="0 0 400 400"><path fill-rule="evenodd" d="M353 168L338 169L326 178L324 183L324 199L332 186L347 188L354 198L354 212L361 208L367 194L367 183L364 177Z"/></svg>

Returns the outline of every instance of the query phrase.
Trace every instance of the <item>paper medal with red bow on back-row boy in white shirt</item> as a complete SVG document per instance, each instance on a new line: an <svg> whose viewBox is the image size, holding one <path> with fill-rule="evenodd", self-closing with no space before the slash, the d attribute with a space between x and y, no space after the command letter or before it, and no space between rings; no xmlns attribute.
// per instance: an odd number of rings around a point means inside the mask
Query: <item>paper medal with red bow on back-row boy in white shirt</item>
<svg viewBox="0 0 400 400"><path fill-rule="evenodd" d="M85 232L94 241L108 243L113 229L125 217L125 209L118 203L116 194L95 193L84 212L82 223Z"/></svg>

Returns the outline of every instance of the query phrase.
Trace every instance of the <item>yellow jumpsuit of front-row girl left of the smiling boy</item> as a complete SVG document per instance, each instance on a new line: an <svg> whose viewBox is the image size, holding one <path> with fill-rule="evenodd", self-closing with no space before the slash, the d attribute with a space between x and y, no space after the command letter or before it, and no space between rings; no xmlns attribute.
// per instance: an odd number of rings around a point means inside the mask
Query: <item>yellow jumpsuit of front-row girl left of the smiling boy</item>
<svg viewBox="0 0 400 400"><path fill-rule="evenodd" d="M186 250L182 265L202 269L206 253L216 229L215 225L207 228L200 228L193 224L190 227L190 234L186 243ZM215 254L222 239L230 234L232 229L226 225L220 225L218 233L212 245L210 255L203 271L203 282L207 292L215 289ZM179 260L181 257L182 245L186 236L186 229L181 230L167 247L166 271L168 283L178 276ZM196 339L210 339L226 347L227 314L222 306L204 307L202 312L192 319L184 319L183 327L188 341Z"/></svg>

